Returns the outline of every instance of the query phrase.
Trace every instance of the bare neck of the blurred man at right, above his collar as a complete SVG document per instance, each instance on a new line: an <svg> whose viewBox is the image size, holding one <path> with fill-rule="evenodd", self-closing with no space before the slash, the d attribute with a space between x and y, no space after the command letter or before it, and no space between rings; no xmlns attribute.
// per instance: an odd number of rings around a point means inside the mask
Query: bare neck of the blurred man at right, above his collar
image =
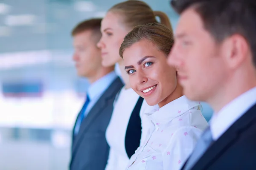
<svg viewBox="0 0 256 170"><path fill-rule="evenodd" d="M256 87L256 72L255 71L240 71L233 74L233 77L228 78L226 82L217 89L215 95L206 102L211 105L215 113L218 113L225 105L236 99L246 91Z"/></svg>

